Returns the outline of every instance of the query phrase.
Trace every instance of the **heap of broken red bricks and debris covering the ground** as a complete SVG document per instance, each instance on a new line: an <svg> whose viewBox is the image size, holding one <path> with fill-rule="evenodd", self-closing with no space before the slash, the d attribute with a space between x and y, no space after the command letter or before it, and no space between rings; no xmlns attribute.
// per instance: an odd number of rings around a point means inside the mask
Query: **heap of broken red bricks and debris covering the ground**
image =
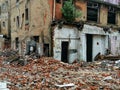
<svg viewBox="0 0 120 90"><path fill-rule="evenodd" d="M67 64L51 57L29 59L26 65L3 63L0 82L10 90L120 90L120 61Z"/></svg>

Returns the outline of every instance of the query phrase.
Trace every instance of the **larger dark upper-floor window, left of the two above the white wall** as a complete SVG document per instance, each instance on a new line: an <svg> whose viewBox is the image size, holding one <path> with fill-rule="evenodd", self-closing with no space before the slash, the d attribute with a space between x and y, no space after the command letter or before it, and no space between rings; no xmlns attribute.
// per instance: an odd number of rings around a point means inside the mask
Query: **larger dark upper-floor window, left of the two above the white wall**
<svg viewBox="0 0 120 90"><path fill-rule="evenodd" d="M88 2L87 3L87 21L99 21L99 4Z"/></svg>

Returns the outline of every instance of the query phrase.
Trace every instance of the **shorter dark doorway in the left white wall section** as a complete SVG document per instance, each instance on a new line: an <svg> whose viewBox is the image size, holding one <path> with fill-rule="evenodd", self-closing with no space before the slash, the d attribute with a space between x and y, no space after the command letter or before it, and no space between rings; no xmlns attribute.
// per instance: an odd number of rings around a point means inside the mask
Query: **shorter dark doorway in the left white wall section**
<svg viewBox="0 0 120 90"><path fill-rule="evenodd" d="M61 60L65 63L68 63L68 42L62 42L62 52L61 52Z"/></svg>

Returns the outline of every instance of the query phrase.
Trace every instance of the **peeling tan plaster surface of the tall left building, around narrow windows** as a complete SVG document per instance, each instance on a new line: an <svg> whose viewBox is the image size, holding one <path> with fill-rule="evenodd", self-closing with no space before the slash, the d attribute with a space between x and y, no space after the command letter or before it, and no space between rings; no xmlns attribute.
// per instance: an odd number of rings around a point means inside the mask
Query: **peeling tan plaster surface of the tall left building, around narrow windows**
<svg viewBox="0 0 120 90"><path fill-rule="evenodd" d="M28 1L28 2L27 2ZM28 20L25 10L28 8ZM24 16L23 16L24 14ZM19 24L17 27L17 19ZM15 38L19 38L19 50L23 50L24 44L30 41L30 37L38 36L39 43L50 44L49 26L52 20L48 0L11 0L11 41L12 48L15 48ZM20 51L21 52L21 51Z"/></svg>

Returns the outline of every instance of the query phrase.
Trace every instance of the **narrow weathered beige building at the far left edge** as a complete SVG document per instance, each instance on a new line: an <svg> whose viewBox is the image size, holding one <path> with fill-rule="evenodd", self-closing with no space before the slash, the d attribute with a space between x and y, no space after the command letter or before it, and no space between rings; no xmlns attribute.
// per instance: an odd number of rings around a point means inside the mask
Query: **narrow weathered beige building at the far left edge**
<svg viewBox="0 0 120 90"><path fill-rule="evenodd" d="M0 0L0 49L10 47L9 1Z"/></svg>

